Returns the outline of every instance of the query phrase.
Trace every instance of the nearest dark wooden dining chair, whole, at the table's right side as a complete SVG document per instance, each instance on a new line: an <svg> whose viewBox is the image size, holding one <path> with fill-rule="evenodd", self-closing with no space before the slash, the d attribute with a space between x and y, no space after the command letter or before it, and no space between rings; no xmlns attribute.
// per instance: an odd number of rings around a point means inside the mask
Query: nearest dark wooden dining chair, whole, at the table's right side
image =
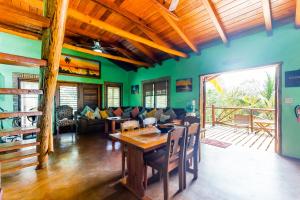
<svg viewBox="0 0 300 200"><path fill-rule="evenodd" d="M169 172L178 168L179 191L183 190L184 150L186 128L175 127L168 132L167 147L165 150L145 155L144 184L147 187L147 166L159 171L163 176L164 200L169 198Z"/></svg>

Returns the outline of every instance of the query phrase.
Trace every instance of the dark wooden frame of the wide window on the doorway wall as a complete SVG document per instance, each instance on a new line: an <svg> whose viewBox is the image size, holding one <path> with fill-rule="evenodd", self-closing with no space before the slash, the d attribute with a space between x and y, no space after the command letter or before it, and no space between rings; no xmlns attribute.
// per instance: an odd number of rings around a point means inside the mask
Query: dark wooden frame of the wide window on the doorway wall
<svg viewBox="0 0 300 200"><path fill-rule="evenodd" d="M169 76L167 77L161 77L161 78L157 78L157 79L151 79L151 80L145 80L145 81L142 81L142 103L143 103L143 106L145 107L145 96L144 96L144 84L149 84L149 83L152 83L152 84L155 84L157 82L162 82L162 81L167 81L168 82L168 86L167 86L167 107L170 107L171 105L171 98L170 98L170 94L171 94L171 78ZM157 108L157 102L156 102L156 95L155 95L155 86L154 86L154 107L153 108ZM159 108L160 109L160 108Z"/></svg>

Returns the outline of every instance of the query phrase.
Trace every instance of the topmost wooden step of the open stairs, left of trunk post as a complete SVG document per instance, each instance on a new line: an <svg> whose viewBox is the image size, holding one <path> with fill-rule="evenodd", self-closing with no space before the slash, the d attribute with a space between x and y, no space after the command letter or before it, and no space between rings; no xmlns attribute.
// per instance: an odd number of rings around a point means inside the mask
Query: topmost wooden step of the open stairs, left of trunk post
<svg viewBox="0 0 300 200"><path fill-rule="evenodd" d="M0 53L0 64L16 65L25 67L43 67L47 65L46 60L28 58L24 56Z"/></svg>

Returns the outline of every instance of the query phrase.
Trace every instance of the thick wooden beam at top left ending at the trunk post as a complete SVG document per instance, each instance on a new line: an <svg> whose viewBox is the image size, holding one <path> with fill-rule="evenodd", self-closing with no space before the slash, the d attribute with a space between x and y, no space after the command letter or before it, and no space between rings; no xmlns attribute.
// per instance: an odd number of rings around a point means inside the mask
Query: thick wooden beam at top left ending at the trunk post
<svg viewBox="0 0 300 200"><path fill-rule="evenodd" d="M36 15L30 12L24 12L19 8L13 8L0 4L0 21L4 23L18 24L25 27L42 27L50 26L50 20L46 17Z"/></svg>

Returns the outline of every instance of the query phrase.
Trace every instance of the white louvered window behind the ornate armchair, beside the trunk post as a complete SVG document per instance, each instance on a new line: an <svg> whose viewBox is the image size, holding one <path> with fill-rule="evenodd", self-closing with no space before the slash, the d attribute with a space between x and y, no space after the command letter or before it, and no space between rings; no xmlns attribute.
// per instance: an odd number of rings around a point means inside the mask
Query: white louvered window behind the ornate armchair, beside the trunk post
<svg viewBox="0 0 300 200"><path fill-rule="evenodd" d="M73 112L78 107L78 86L76 84L59 85L59 105L68 105L73 108Z"/></svg>

